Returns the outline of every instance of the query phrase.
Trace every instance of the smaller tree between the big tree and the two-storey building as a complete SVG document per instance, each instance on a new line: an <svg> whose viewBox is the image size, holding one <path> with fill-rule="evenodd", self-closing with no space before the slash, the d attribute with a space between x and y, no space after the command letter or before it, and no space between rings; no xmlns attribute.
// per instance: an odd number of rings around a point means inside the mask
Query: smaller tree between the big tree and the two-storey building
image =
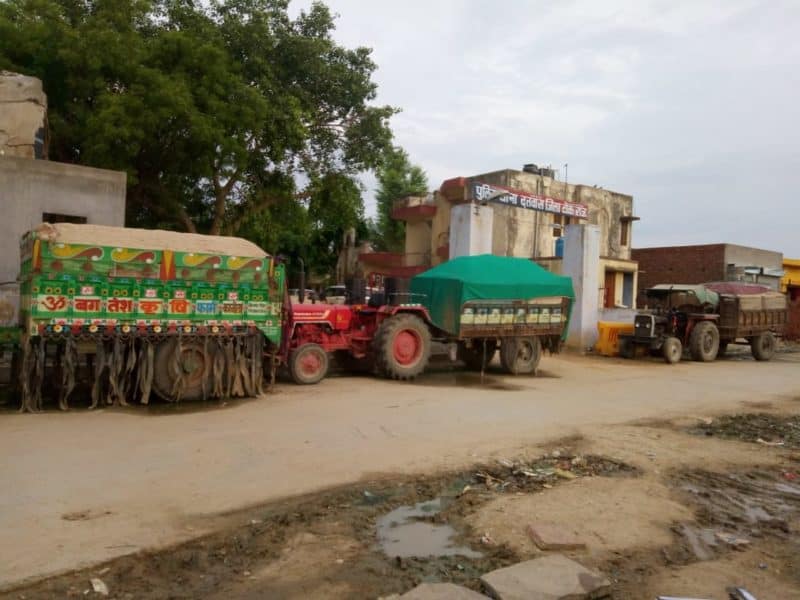
<svg viewBox="0 0 800 600"><path fill-rule="evenodd" d="M377 169L377 176L375 244L382 250L399 251L405 242L405 224L392 219L392 206L399 198L425 195L428 192L428 178L425 171L411 164L405 150L398 147L386 153L384 162Z"/></svg>

